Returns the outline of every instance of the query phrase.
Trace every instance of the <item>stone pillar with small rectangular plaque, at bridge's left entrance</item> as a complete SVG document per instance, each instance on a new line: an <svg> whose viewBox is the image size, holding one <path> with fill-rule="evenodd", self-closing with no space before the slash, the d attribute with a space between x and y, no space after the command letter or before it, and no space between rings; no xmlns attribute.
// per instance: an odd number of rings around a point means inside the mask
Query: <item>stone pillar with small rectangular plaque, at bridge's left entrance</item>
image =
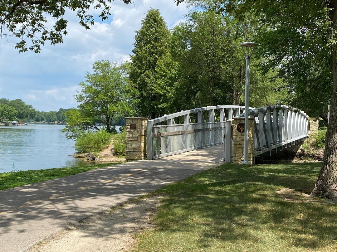
<svg viewBox="0 0 337 252"><path fill-rule="evenodd" d="M143 160L146 157L147 118L126 117L125 160Z"/></svg>

